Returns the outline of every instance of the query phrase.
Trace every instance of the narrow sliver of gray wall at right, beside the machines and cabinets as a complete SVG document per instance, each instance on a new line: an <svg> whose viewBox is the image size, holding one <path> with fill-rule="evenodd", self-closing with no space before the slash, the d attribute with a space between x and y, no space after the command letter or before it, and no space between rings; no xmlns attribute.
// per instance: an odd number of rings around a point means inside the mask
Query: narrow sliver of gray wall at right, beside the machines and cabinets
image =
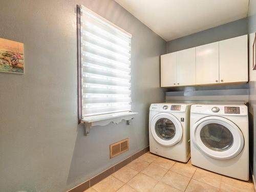
<svg viewBox="0 0 256 192"><path fill-rule="evenodd" d="M250 0L248 13L248 33L256 32L256 0ZM250 37L250 36L249 36ZM253 39L249 38L249 46ZM250 49L249 49L250 50ZM251 51L249 51L249 67L251 70ZM250 71L249 82L249 99L250 99L250 163L254 184L256 183L256 75Z"/></svg>

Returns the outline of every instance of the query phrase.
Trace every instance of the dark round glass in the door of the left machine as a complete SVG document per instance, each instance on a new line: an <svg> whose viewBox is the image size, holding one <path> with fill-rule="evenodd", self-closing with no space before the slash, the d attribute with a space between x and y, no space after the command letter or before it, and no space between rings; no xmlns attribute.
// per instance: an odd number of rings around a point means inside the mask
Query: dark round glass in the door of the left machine
<svg viewBox="0 0 256 192"><path fill-rule="evenodd" d="M173 139L176 133L176 128L174 123L167 119L167 118L161 118L158 119L155 125L155 131L163 140L170 140Z"/></svg>

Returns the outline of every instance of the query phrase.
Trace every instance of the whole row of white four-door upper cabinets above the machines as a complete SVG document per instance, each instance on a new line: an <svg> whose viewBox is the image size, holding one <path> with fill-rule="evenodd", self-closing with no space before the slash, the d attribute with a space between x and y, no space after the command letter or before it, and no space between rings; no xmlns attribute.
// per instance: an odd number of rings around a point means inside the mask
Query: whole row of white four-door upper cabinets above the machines
<svg viewBox="0 0 256 192"><path fill-rule="evenodd" d="M248 81L247 35L161 55L161 87Z"/></svg>

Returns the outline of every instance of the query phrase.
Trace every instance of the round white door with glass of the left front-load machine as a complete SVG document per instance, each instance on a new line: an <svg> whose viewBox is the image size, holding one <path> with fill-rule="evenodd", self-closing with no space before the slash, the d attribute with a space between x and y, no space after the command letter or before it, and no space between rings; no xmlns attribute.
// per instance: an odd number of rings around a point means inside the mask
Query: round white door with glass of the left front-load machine
<svg viewBox="0 0 256 192"><path fill-rule="evenodd" d="M151 133L163 146L173 146L182 138L182 125L172 114L159 113L151 121Z"/></svg>

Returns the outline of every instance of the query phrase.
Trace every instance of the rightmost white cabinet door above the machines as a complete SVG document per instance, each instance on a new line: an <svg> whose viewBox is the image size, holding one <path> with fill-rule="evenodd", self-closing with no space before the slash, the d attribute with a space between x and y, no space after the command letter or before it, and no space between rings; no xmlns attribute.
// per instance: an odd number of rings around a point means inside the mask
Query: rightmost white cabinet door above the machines
<svg viewBox="0 0 256 192"><path fill-rule="evenodd" d="M220 43L220 83L248 81L247 35Z"/></svg>

